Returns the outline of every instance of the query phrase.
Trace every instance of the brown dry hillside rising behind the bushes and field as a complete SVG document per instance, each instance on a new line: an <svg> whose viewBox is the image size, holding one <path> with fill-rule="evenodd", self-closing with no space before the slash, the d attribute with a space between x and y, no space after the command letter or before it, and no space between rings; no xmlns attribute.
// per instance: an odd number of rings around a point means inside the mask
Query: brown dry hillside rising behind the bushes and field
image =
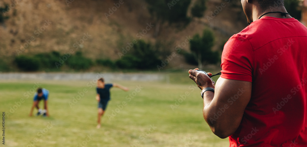
<svg viewBox="0 0 307 147"><path fill-rule="evenodd" d="M20 2L18 2L20 1ZM129 0L116 9L109 17L116 0L4 0L0 6L9 4L11 9L5 12L9 19L0 26L0 57L8 60L20 54L59 51L61 53L82 51L85 56L118 59L122 47L133 39L140 39L140 32L148 24L149 31L143 31L142 39L155 42L171 42L170 50L185 41L187 36L201 33L206 27L215 30L217 49L231 35L242 30L246 23L242 10L232 8L225 0L207 2L203 18L193 19L184 29L169 24L162 24L158 37L153 37L156 22L151 19L146 2ZM225 3L225 7L210 22L207 16ZM109 9L110 8L110 9ZM238 21L240 20L240 21ZM146 33L145 33L146 32ZM32 39L32 40L31 40ZM77 45L80 44L80 45ZM189 50L189 46L184 47ZM173 66L184 61L176 58Z"/></svg>

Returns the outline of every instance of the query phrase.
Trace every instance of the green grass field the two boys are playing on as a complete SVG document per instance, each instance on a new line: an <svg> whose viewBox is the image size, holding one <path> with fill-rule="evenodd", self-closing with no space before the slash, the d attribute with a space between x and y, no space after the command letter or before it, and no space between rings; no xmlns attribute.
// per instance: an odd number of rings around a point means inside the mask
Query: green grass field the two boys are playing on
<svg viewBox="0 0 307 147"><path fill-rule="evenodd" d="M200 89L188 74L172 74L169 81L114 81L130 91L111 89L100 129L96 129L96 86L90 81L0 81L0 111L6 112L6 145L2 146L229 146L228 139L215 136L204 121ZM36 117L37 110L29 117L37 82L50 91L49 118ZM136 90L138 87L141 90ZM82 94L83 90L86 93ZM73 101L73 97L79 100Z"/></svg>

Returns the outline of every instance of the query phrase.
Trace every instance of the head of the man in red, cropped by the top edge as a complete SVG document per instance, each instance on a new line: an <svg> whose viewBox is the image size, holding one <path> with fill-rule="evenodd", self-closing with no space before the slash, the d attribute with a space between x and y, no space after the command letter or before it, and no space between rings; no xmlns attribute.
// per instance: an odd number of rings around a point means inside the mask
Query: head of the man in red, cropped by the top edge
<svg viewBox="0 0 307 147"><path fill-rule="evenodd" d="M279 6L284 5L284 0L241 0L243 11L247 17L247 22L253 22L253 11L258 13L272 12Z"/></svg>

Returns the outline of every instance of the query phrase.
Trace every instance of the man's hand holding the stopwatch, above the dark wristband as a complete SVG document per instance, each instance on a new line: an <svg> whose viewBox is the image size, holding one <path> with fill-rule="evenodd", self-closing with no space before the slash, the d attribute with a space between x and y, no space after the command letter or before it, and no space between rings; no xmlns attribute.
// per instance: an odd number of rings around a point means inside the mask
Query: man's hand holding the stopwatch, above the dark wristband
<svg viewBox="0 0 307 147"><path fill-rule="evenodd" d="M214 84L212 83L212 80L209 76L212 75L212 73L207 72L206 75L204 73L197 72L198 68L195 68L194 70L189 70L189 77L197 84L197 86L200 88L200 90L203 90L204 88L211 87L214 88Z"/></svg>

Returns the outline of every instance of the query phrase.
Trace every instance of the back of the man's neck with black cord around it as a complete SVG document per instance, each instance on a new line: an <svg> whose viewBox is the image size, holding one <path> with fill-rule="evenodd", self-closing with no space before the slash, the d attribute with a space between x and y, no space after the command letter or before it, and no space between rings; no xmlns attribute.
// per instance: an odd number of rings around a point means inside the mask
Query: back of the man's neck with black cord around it
<svg viewBox="0 0 307 147"><path fill-rule="evenodd" d="M256 21L258 20L258 18L263 15L264 13L268 13L268 12L283 12L283 13L287 13L287 10L284 6L279 6L279 7L270 7L269 9L266 9L265 11L253 11L253 21ZM282 16L281 13L269 13L269 14L265 14L263 15L261 18L263 17L266 17L266 16L269 16L269 17L275 17L275 18L292 18L290 15L286 15L285 16Z"/></svg>

